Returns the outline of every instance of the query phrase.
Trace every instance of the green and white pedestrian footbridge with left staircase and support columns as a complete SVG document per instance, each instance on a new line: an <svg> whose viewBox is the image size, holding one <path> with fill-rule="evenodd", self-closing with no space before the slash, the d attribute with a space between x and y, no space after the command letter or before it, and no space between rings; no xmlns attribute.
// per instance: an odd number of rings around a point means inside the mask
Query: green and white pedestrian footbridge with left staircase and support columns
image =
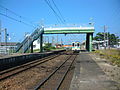
<svg viewBox="0 0 120 90"><path fill-rule="evenodd" d="M86 50L92 51L92 39L94 27L60 27L60 28L43 28L36 29L29 37L26 37L23 42L17 47L16 52L23 49L25 53L31 47L33 52L33 41L40 38L40 52L42 52L43 34L86 34Z"/></svg>

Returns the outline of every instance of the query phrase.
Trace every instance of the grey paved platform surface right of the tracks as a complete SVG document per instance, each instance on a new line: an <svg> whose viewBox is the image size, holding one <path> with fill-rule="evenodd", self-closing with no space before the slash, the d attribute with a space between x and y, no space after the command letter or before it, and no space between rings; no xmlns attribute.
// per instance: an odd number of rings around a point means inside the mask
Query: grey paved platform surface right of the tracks
<svg viewBox="0 0 120 90"><path fill-rule="evenodd" d="M69 90L120 90L117 84L105 75L88 53L78 55Z"/></svg>

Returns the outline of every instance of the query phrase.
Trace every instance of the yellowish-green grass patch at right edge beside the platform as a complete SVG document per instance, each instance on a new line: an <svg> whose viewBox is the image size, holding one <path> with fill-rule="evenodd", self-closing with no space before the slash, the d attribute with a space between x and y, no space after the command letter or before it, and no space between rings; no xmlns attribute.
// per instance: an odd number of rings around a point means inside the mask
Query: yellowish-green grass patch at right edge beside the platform
<svg viewBox="0 0 120 90"><path fill-rule="evenodd" d="M100 55L102 58L108 59L113 65L117 65L120 67L120 50L96 50L93 53Z"/></svg>

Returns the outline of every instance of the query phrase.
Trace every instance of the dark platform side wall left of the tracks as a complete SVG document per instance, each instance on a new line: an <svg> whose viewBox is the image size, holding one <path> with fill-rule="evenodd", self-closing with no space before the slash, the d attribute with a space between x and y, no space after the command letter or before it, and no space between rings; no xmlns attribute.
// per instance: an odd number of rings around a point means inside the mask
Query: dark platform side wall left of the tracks
<svg viewBox="0 0 120 90"><path fill-rule="evenodd" d="M64 50L58 50L58 51L51 51L46 53L32 53L32 54L26 54L26 55L20 55L20 56L12 56L12 57L6 57L0 59L0 71L18 66L33 60L37 60L49 55L57 54L59 52L62 52Z"/></svg>

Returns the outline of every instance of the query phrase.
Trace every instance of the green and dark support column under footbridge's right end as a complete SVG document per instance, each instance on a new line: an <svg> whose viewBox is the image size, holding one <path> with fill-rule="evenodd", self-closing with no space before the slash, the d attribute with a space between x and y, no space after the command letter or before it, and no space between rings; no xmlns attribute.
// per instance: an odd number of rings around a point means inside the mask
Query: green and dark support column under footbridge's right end
<svg viewBox="0 0 120 90"><path fill-rule="evenodd" d="M86 35L86 50L89 52L92 51L92 39L93 39L93 33L87 33L87 35Z"/></svg>

